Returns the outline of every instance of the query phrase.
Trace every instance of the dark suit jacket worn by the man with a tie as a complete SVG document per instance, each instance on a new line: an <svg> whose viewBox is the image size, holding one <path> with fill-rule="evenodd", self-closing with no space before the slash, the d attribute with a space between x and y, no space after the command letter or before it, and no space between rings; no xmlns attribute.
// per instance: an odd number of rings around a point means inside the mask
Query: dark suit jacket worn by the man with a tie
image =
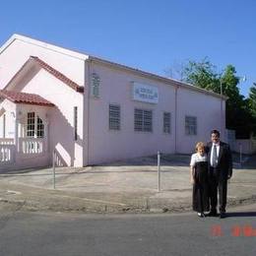
<svg viewBox="0 0 256 256"><path fill-rule="evenodd" d="M211 174L211 152L213 143L210 142L207 144L206 152L207 152L207 160L209 165L209 174ZM220 152L219 152L219 158L218 158L218 165L216 167L216 170L220 176L221 179L225 180L227 179L227 176L232 176L232 155L231 151L229 149L228 144L224 142L220 142Z"/></svg>

